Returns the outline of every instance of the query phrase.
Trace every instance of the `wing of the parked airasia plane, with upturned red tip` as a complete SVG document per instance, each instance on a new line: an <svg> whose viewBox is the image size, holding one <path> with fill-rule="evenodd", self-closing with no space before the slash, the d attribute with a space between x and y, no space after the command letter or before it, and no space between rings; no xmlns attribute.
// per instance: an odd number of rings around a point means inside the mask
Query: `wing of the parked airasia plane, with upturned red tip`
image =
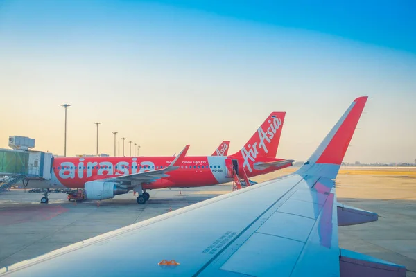
<svg viewBox="0 0 416 277"><path fill-rule="evenodd" d="M172 163L169 166L166 166L166 168L162 168L159 170L138 172L138 173L133 173L129 175L120 175L118 177L100 179L100 181L128 181L128 182L135 181L137 183L150 183L150 182L156 181L157 179L168 177L169 175L167 175L166 172L180 168L182 161L188 152L188 149L189 149L189 145L186 145L185 148L179 153L179 155L175 157Z"/></svg>

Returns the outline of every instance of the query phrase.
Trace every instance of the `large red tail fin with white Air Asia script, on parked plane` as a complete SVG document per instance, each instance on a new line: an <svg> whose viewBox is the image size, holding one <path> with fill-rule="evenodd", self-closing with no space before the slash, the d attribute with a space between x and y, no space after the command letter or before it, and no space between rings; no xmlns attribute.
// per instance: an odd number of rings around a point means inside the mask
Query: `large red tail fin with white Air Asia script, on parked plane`
<svg viewBox="0 0 416 277"><path fill-rule="evenodd" d="M249 157L253 161L255 157L275 158L284 116L286 116L284 111L273 111L243 148L232 156Z"/></svg>

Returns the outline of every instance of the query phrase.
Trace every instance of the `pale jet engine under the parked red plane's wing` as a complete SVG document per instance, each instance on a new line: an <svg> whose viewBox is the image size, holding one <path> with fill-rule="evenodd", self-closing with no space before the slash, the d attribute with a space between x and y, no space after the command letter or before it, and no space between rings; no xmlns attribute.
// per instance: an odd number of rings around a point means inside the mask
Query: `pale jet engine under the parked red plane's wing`
<svg viewBox="0 0 416 277"><path fill-rule="evenodd" d="M90 200L103 200L114 198L115 195L123 195L127 188L121 188L112 181L88 181L84 186L85 195Z"/></svg>

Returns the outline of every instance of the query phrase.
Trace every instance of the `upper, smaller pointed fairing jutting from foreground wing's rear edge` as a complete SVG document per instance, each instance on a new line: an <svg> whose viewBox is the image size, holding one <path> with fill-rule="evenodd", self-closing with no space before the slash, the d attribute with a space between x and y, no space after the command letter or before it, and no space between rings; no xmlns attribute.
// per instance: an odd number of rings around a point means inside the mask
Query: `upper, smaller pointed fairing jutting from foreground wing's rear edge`
<svg viewBox="0 0 416 277"><path fill-rule="evenodd" d="M379 220L379 215L369 211L337 203L338 226L363 224Z"/></svg>

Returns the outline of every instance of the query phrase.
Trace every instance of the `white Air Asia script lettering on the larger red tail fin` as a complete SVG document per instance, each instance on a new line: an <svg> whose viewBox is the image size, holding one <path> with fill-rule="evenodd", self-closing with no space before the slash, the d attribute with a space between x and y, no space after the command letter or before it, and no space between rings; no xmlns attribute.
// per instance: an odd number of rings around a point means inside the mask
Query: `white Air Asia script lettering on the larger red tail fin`
<svg viewBox="0 0 416 277"><path fill-rule="evenodd" d="M259 154L257 145L259 146L259 149L261 148L266 154L268 153L267 145L275 137L277 130L281 126L281 119L277 118L276 116L272 116L272 118L268 120L268 123L270 124L270 127L266 129L266 132L261 126L257 130L257 134L259 134L259 141L253 143L253 145L249 144L248 150L245 149L245 146L241 149L241 154L243 155L244 160L243 168L248 168L248 171L250 172L253 172L250 166L250 161L256 161L257 155Z"/></svg>

